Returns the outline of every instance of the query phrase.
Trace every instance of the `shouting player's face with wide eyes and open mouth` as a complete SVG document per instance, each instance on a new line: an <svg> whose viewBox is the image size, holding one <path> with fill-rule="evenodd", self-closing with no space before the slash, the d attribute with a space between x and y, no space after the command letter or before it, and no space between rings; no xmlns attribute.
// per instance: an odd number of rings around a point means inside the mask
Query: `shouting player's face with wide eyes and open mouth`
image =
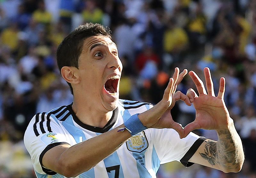
<svg viewBox="0 0 256 178"><path fill-rule="evenodd" d="M114 110L123 68L115 43L106 36L85 39L78 66L79 96L85 95L84 98L94 105L92 107Z"/></svg>

